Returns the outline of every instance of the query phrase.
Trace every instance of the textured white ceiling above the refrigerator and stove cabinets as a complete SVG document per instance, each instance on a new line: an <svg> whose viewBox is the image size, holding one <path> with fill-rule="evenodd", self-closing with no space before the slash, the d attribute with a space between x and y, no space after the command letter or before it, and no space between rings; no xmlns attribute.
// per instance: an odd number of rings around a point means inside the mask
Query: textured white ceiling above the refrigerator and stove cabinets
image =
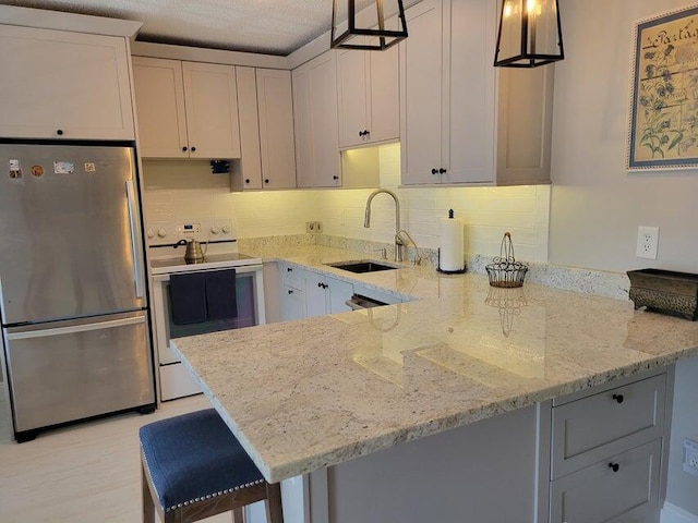
<svg viewBox="0 0 698 523"><path fill-rule="evenodd" d="M329 31L333 0L0 0L0 3L143 22L140 41L286 56ZM369 4L370 0L358 1L358 7L361 3Z"/></svg>

